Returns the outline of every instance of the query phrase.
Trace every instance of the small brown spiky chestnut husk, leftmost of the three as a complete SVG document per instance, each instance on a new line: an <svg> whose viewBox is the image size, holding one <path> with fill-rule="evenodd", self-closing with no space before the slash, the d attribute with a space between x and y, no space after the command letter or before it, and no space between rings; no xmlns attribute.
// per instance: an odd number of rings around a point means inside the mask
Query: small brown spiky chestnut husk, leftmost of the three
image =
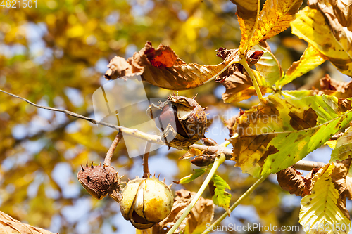
<svg viewBox="0 0 352 234"><path fill-rule="evenodd" d="M93 162L91 166L86 164L77 174L78 181L94 198L101 200L109 194L117 202L122 200L120 178L113 167L93 166Z"/></svg>

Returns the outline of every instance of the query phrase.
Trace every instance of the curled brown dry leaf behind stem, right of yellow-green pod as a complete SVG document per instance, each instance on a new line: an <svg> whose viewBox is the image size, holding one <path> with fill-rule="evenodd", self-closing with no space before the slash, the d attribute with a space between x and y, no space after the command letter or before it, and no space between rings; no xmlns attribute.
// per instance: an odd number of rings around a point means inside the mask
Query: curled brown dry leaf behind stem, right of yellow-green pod
<svg viewBox="0 0 352 234"><path fill-rule="evenodd" d="M166 219L153 226L153 234L168 233L168 230L176 223L177 219L187 209L191 203L192 197L196 193L187 190L176 191L175 203L172 207L171 213ZM202 233L206 228L206 223L211 223L214 217L214 203L212 200L201 197L196 205L191 209L189 215L182 221L181 225L175 233ZM174 234L175 234L174 233Z"/></svg>

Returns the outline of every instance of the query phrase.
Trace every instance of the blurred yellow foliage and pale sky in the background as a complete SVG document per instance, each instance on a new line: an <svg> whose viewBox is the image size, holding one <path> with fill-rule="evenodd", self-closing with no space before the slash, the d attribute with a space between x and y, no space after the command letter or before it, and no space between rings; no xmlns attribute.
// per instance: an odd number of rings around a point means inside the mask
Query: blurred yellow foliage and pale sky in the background
<svg viewBox="0 0 352 234"><path fill-rule="evenodd" d="M305 4L303 4L304 6ZM0 89L39 105L94 117L92 93L106 84L103 73L113 56L128 58L146 41L170 45L186 63L215 65L219 47L237 48L241 32L236 6L227 0L37 0L37 8L0 7ZM284 70L298 60L306 43L291 29L269 44ZM316 85L329 63L296 79L287 89ZM170 91L145 84L149 98ZM224 104L221 84L210 82L180 95L194 96L208 106L209 138L228 137L224 120L250 108L257 98ZM119 100L123 102L124 100ZM110 197L94 200L80 186L80 164L99 164L116 132L62 113L39 110L0 93L0 210L33 226L59 233L134 233ZM329 159L326 149L315 152ZM194 165L178 160L184 152L165 146L151 153L150 170L166 183L191 174ZM326 159L322 155L326 154ZM308 159L314 159L314 153ZM142 176L142 159L129 158L124 143L115 150L113 167L125 181ZM218 174L232 188L232 201L255 179L225 162ZM202 177L201 177L202 178ZM198 190L201 178L173 190ZM209 198L206 192L204 197ZM275 175L263 183L223 224L298 225L300 198L279 188ZM215 209L215 218L223 209ZM260 233L258 230L253 233ZM296 233L296 232L286 232Z"/></svg>

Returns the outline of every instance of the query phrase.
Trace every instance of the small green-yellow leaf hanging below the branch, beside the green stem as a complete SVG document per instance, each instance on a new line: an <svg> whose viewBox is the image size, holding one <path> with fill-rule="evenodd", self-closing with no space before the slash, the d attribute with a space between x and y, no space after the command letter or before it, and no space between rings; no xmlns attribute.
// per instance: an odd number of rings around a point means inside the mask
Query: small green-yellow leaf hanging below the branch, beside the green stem
<svg viewBox="0 0 352 234"><path fill-rule="evenodd" d="M215 186L215 194L213 195L214 204L224 208L230 216L230 201L231 194L227 193L225 189L231 190L230 186L226 183L226 181L218 175L214 175L212 178Z"/></svg>

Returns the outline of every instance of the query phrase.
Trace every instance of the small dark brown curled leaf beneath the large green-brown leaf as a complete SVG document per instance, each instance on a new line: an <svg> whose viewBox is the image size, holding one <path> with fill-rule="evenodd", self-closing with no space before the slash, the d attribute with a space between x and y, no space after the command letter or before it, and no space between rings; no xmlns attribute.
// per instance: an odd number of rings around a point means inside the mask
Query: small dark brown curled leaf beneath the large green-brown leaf
<svg viewBox="0 0 352 234"><path fill-rule="evenodd" d="M277 181L283 190L287 190L290 194L304 197L310 195L311 179L319 169L313 169L307 176L301 176L301 172L288 167L277 172Z"/></svg>

